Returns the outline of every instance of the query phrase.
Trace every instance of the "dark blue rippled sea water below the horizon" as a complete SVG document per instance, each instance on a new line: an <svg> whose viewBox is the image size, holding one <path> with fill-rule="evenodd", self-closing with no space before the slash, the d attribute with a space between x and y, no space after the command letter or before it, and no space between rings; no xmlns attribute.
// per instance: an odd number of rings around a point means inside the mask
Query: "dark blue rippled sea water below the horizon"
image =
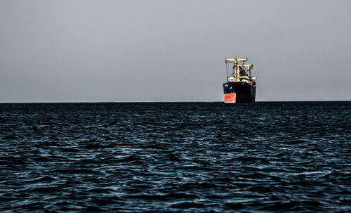
<svg viewBox="0 0 351 213"><path fill-rule="evenodd" d="M351 211L351 102L0 104L0 141L0 211Z"/></svg>

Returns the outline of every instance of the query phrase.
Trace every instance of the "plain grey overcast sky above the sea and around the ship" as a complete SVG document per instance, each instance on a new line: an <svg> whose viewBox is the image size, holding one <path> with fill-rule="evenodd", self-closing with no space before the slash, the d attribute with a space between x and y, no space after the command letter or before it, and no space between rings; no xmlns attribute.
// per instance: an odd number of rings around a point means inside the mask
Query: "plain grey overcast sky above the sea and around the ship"
<svg viewBox="0 0 351 213"><path fill-rule="evenodd" d="M351 1L0 0L0 102L351 101Z"/></svg>

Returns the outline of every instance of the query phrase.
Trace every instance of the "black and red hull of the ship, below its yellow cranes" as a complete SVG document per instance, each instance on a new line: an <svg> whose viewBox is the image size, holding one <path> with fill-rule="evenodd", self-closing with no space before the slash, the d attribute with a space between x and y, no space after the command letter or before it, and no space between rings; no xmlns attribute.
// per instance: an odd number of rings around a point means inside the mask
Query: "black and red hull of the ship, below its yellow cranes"
<svg viewBox="0 0 351 213"><path fill-rule="evenodd" d="M246 82L227 82L223 84L225 103L253 103L256 86Z"/></svg>

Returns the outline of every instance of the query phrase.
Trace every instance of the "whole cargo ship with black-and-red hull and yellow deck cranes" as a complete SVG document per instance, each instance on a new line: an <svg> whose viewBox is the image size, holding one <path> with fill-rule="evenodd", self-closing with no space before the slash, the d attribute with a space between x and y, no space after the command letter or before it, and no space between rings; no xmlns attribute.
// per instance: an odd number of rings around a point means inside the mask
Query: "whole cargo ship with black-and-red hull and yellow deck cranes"
<svg viewBox="0 0 351 213"><path fill-rule="evenodd" d="M256 77L251 76L253 65L247 58L225 58L227 82L223 84L225 103L253 103L256 98ZM230 70L228 70L230 64Z"/></svg>

